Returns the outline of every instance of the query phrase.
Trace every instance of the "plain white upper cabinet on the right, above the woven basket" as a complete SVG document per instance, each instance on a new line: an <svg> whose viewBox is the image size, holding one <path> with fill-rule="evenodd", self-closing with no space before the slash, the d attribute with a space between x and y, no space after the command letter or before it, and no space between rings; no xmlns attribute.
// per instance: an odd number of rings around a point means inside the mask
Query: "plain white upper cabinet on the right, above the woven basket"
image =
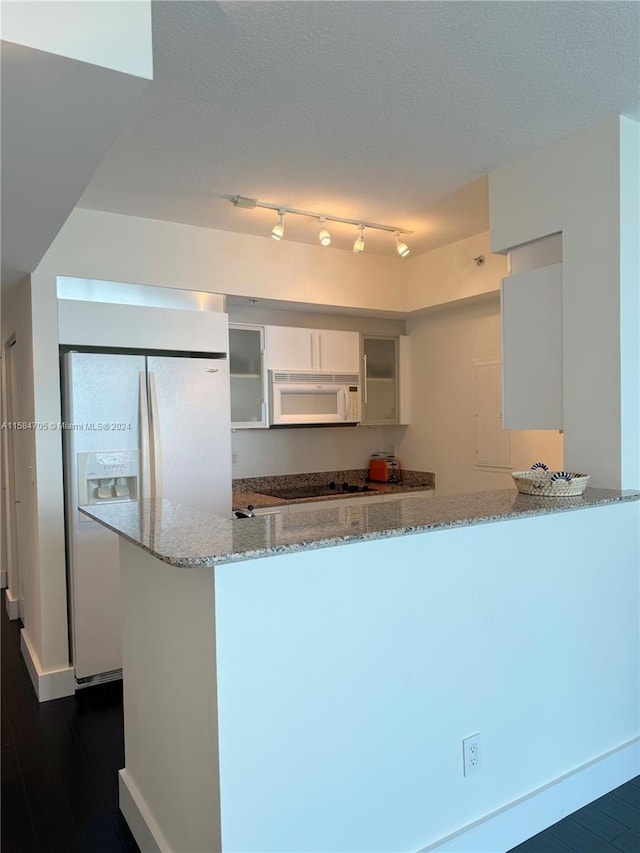
<svg viewBox="0 0 640 853"><path fill-rule="evenodd" d="M562 429L562 264L502 281L505 429Z"/></svg>

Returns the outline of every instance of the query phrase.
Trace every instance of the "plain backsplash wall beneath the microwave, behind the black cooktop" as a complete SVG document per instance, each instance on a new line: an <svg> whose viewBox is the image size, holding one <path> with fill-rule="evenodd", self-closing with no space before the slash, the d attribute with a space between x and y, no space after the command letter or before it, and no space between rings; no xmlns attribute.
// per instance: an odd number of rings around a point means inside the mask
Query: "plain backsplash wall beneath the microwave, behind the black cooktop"
<svg viewBox="0 0 640 853"><path fill-rule="evenodd" d="M364 468L372 453L394 453L405 430L406 427L237 430L231 435L231 476L235 480Z"/></svg>

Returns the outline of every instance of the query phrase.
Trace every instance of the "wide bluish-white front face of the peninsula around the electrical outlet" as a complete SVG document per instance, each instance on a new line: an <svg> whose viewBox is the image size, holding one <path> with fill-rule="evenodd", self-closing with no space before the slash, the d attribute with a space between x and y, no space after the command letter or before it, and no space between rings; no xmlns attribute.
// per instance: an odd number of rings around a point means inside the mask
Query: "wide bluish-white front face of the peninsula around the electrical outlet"
<svg viewBox="0 0 640 853"><path fill-rule="evenodd" d="M222 849L415 851L637 739L639 507L217 566Z"/></svg>

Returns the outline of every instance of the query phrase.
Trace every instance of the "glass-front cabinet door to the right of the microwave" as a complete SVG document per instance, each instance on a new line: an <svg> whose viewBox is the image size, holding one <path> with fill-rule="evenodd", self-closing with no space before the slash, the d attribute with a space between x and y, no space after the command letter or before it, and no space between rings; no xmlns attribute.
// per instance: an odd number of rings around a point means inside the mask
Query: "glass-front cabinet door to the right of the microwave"
<svg viewBox="0 0 640 853"><path fill-rule="evenodd" d="M399 423L398 339L362 336L362 422Z"/></svg>

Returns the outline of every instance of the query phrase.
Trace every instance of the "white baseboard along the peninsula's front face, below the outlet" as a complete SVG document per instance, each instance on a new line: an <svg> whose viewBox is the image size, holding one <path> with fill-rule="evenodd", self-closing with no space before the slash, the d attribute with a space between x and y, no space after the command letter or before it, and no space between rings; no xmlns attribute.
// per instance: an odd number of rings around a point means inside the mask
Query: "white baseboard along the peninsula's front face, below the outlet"
<svg viewBox="0 0 640 853"><path fill-rule="evenodd" d="M419 853L504 853L640 773L640 738L589 761Z"/></svg>

